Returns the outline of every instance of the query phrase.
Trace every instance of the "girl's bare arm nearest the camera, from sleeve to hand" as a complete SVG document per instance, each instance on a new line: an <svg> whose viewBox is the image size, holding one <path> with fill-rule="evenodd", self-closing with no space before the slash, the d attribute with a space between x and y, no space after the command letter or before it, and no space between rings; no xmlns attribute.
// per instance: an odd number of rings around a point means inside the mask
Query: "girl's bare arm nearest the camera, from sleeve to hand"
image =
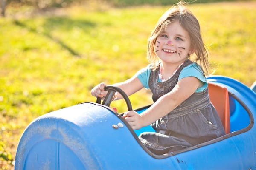
<svg viewBox="0 0 256 170"><path fill-rule="evenodd" d="M172 91L161 96L143 113L138 114L134 111L128 111L123 117L133 129L140 129L174 110L184 100L195 93L196 89L201 87L202 84L203 83L196 77L185 77L180 79Z"/></svg>

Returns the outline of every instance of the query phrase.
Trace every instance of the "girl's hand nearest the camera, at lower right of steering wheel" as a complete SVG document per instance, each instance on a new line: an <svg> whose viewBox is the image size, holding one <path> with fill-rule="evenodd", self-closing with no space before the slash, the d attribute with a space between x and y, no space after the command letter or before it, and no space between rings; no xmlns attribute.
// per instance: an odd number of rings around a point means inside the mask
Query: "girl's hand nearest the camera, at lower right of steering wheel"
<svg viewBox="0 0 256 170"><path fill-rule="evenodd" d="M136 111L128 111L125 112L122 116L128 123L129 125L135 130L135 129L140 129L143 127L143 117L138 114Z"/></svg>

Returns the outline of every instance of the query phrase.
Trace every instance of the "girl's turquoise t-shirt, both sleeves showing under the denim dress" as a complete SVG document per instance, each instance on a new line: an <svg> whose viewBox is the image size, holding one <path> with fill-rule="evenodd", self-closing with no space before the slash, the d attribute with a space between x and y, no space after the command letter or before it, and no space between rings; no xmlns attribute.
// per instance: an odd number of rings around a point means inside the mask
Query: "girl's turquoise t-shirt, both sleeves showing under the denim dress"
<svg viewBox="0 0 256 170"><path fill-rule="evenodd" d="M151 73L151 66L148 65L145 68L140 69L135 75L138 77L138 79L140 80L140 82L143 84L144 88L148 89L148 80L149 80L149 76ZM200 88L198 88L195 92L201 92L204 89L207 88L208 83L206 81L205 76L202 74L203 71L201 70L200 67L198 67L198 65L193 62L192 64L184 67L181 71L180 71L180 75L178 78L178 81L180 79L183 79L184 77L196 77L198 78L201 82L204 83L204 85L202 85ZM160 81L160 80L159 80Z"/></svg>

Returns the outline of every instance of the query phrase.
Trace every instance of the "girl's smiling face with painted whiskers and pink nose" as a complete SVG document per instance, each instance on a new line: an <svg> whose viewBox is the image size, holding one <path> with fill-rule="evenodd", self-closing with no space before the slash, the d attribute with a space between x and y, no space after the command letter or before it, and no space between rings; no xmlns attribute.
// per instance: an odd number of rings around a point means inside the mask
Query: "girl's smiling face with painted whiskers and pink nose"
<svg viewBox="0 0 256 170"><path fill-rule="evenodd" d="M155 51L163 64L180 64L194 52L188 32L178 21L170 23L157 37Z"/></svg>

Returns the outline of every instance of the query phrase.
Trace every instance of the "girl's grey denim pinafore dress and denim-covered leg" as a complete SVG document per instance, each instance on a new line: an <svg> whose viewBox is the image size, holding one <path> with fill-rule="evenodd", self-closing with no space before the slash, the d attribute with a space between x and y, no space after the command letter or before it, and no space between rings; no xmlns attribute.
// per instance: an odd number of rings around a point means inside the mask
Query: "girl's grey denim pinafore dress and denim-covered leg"
<svg viewBox="0 0 256 170"><path fill-rule="evenodd" d="M192 61L186 60L171 78L163 82L157 82L160 68L151 71L148 85L153 93L154 102L175 87L180 71L190 64ZM192 94L151 126L156 133L144 132L139 138L149 150L156 154L192 147L225 134L218 113L210 102L208 88Z"/></svg>

